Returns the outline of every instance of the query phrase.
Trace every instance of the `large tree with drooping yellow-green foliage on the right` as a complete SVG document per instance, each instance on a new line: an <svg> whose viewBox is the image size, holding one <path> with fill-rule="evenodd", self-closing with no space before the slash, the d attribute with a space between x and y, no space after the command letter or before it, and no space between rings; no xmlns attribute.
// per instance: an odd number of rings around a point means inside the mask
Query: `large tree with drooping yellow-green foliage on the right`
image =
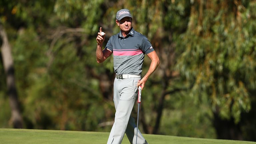
<svg viewBox="0 0 256 144"><path fill-rule="evenodd" d="M198 1L177 67L191 96L209 98L218 138L243 139L241 114L255 100L255 1ZM226 131L225 131L226 130Z"/></svg>

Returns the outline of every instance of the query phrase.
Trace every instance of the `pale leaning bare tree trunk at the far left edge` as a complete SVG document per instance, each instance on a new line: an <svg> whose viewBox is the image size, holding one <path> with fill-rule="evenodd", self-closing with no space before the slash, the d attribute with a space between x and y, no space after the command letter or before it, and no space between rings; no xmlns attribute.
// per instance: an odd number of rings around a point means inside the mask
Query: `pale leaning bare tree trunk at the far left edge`
<svg viewBox="0 0 256 144"><path fill-rule="evenodd" d="M18 102L17 90L14 78L13 59L11 55L11 47L8 42L7 34L2 25L0 25L0 37L2 39L1 53L3 58L3 65L6 74L7 91L10 99L10 107L12 116L10 122L14 128L22 128L23 122L20 114L20 107Z"/></svg>

